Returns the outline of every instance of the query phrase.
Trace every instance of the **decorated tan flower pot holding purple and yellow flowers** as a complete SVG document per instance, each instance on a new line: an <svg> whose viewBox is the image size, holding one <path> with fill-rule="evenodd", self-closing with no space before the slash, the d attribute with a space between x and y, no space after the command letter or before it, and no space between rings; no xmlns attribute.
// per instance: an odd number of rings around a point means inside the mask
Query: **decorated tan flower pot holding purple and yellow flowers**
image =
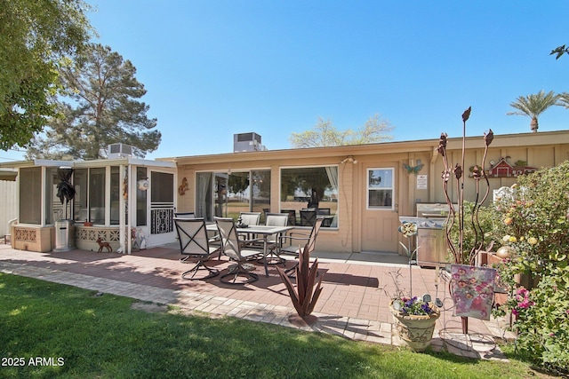
<svg viewBox="0 0 569 379"><path fill-rule="evenodd" d="M437 309L432 305L433 309ZM430 315L404 315L393 308L393 302L389 304L389 311L396 321L397 334L407 346L414 351L424 351L430 345L433 338L435 324L441 315L438 311Z"/></svg>

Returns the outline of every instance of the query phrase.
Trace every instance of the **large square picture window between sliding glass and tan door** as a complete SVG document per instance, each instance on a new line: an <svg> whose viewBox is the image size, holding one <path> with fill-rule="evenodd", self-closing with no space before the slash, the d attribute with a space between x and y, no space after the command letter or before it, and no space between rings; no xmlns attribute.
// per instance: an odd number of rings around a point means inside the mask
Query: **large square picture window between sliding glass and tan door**
<svg viewBox="0 0 569 379"><path fill-rule="evenodd" d="M312 226L316 217L323 226L336 227L338 167L298 167L281 170L280 211L289 213L289 225Z"/></svg>

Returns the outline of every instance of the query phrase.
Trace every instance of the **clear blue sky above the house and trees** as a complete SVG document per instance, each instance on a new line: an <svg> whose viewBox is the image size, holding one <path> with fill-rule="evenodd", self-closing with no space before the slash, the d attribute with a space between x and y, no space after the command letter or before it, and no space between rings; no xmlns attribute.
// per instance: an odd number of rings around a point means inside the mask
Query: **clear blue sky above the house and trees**
<svg viewBox="0 0 569 379"><path fill-rule="evenodd" d="M318 117L343 130L380 114L397 141L460 137L469 106L470 136L528 132L509 103L569 91L569 56L549 56L569 43L565 0L87 2L99 42L148 91L163 136L150 159L228 153L248 131L289 148ZM553 107L539 130L568 121Z"/></svg>

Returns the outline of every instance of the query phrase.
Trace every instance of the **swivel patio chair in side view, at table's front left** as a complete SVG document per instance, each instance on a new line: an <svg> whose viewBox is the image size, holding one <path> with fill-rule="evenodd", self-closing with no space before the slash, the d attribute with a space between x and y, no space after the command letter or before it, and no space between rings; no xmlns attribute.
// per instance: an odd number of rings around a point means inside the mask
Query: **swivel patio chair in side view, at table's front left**
<svg viewBox="0 0 569 379"><path fill-rule="evenodd" d="M243 241L237 237L236 225L233 218L213 217L218 230L220 231L221 249L223 254L229 257L233 263L229 265L228 272L221 275L220 280L228 284L246 284L259 280L259 276L252 271L255 266L247 263L249 260L256 259L262 252L254 249L242 249ZM226 279L226 278L232 278ZM239 277L244 280L237 281Z"/></svg>

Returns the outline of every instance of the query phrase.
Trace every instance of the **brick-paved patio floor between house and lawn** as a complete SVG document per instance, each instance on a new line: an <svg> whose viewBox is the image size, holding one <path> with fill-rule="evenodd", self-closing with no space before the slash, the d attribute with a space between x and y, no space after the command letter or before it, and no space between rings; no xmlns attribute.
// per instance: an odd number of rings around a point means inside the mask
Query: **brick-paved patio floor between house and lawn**
<svg viewBox="0 0 569 379"><path fill-rule="evenodd" d="M96 253L84 250L37 253L11 249L0 243L0 272L50 280L80 288L129 296L157 304L172 304L187 312L209 312L247 320L270 322L292 328L332 333L370 343L402 344L392 325L389 294L395 291L391 274L400 270L400 283L408 288L406 257L389 253L326 255L315 253L324 273L323 291L318 299L316 325L295 326L288 316L295 314L288 292L269 265L256 265L259 280L246 285L228 285L220 276L210 280L183 280L188 265L179 262L177 245L141 250L132 255ZM223 270L228 260L221 257L209 265ZM287 267L293 261L287 263ZM281 265L282 266L282 265ZM469 319L469 335L461 334L461 318L453 316L448 283L435 269L413 266L413 294L430 294L443 300L431 346L482 359L504 359L494 337L506 338L504 320Z"/></svg>

